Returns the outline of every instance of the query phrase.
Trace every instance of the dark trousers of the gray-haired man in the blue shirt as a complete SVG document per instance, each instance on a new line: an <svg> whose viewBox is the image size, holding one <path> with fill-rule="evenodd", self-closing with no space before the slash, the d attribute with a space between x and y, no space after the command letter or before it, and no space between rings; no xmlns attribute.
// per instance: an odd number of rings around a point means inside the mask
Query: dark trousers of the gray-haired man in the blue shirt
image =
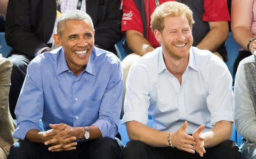
<svg viewBox="0 0 256 159"><path fill-rule="evenodd" d="M108 137L78 143L75 150L50 152L43 144L33 143L28 140L20 140L12 145L7 159L55 159L55 158L109 158L119 159L122 146L117 140Z"/></svg>

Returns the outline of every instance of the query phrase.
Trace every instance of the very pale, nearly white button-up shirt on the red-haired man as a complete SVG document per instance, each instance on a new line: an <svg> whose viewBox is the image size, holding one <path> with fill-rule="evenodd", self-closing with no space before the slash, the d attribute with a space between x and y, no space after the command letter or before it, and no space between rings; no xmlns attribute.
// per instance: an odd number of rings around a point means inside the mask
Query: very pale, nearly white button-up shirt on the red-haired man
<svg viewBox="0 0 256 159"><path fill-rule="evenodd" d="M162 47L147 53L133 64L126 81L123 123L146 124L177 131L188 121L186 132L201 124L209 131L220 120L234 122L232 77L226 64L206 50L191 47L182 83L165 66Z"/></svg>

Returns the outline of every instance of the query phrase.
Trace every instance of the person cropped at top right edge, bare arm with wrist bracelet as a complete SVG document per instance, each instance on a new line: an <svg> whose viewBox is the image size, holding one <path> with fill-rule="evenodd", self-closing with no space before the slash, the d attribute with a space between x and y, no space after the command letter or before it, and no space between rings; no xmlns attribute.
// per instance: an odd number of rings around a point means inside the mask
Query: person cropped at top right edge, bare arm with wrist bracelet
<svg viewBox="0 0 256 159"><path fill-rule="evenodd" d="M231 5L231 30L234 40L242 49L235 60L233 74L243 58L256 50L256 1L233 0Z"/></svg>

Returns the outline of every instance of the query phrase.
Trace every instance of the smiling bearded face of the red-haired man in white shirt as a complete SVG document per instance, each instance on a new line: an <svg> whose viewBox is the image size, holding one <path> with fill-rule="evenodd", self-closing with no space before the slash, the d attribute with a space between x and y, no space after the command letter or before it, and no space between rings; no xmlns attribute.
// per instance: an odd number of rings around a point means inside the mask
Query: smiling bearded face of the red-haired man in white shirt
<svg viewBox="0 0 256 159"><path fill-rule="evenodd" d="M180 16L166 16L162 32L154 30L157 41L163 47L163 53L175 60L189 56L189 49L193 44L192 27L185 14Z"/></svg>

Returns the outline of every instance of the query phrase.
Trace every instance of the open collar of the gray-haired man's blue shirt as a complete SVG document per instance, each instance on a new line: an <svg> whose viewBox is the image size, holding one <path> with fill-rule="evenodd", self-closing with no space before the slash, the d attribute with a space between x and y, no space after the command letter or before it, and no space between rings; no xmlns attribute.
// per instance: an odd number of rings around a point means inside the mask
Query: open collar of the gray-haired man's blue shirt
<svg viewBox="0 0 256 159"><path fill-rule="evenodd" d="M65 59L64 50L62 47L57 49L57 52L59 52L59 55L57 57L57 75L59 75L62 72L68 71L68 64ZM94 68L94 56L95 56L95 48L93 47L92 53L90 55L89 61L86 65L86 68L84 71L96 76L96 71ZM83 72L84 72L83 71Z"/></svg>

